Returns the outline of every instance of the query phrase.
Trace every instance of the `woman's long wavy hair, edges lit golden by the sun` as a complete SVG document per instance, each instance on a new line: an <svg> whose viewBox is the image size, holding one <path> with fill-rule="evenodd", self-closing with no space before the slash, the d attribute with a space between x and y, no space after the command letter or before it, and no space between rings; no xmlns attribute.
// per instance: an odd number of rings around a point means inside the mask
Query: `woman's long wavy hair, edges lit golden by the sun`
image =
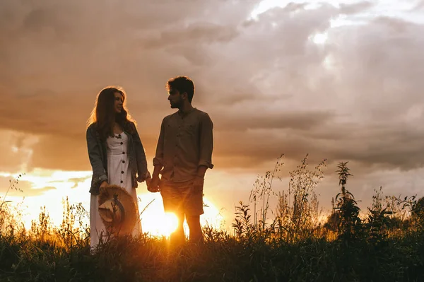
<svg viewBox="0 0 424 282"><path fill-rule="evenodd" d="M118 114L114 112L114 93L122 95L122 111ZM108 136L113 136L113 124L117 122L124 131L134 133L136 122L131 118L126 109L126 93L119 86L108 86L103 88L95 100L93 111L87 121L87 127L95 123L95 127L100 139L105 140Z"/></svg>

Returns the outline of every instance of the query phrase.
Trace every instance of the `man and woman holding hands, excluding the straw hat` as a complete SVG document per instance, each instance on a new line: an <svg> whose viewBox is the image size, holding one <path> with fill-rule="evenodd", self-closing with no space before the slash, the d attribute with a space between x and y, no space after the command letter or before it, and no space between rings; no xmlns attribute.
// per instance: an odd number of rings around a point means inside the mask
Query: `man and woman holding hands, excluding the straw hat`
<svg viewBox="0 0 424 282"><path fill-rule="evenodd" d="M175 213L177 230L171 242L184 241L184 217L189 225L189 241L203 242L200 215L203 210L204 176L213 168L213 123L206 112L192 106L194 83L187 76L171 78L166 83L168 100L174 114L166 116L153 158L153 175L147 168L146 154L125 107L126 93L119 87L100 91L88 120L86 131L88 156L93 168L90 187L90 246L94 248L108 236L105 218L99 211L103 190L115 186L128 192L138 216L136 187L146 181L148 191L160 192L165 211ZM121 219L131 218L130 208L122 208ZM99 209L100 208L100 209ZM119 209L118 208L118 209ZM134 215L132 215L134 216ZM141 223L131 225L131 235L141 234Z"/></svg>

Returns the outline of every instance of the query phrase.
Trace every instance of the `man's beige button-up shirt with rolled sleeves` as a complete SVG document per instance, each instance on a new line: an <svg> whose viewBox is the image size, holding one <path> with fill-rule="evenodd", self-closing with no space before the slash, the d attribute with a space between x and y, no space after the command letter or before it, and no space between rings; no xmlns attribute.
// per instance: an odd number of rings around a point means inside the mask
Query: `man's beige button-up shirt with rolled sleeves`
<svg viewBox="0 0 424 282"><path fill-rule="evenodd" d="M160 127L153 165L161 165L162 179L192 180L200 165L213 168L213 123L206 112L194 108L165 117Z"/></svg>

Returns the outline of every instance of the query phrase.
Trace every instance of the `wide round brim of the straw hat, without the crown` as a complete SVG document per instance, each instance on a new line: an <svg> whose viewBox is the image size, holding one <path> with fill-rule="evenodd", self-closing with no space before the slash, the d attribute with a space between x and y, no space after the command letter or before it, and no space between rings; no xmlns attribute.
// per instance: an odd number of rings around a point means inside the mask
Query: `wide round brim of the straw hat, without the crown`
<svg viewBox="0 0 424 282"><path fill-rule="evenodd" d="M98 204L99 206L101 206L103 203L105 203L105 201L114 199L115 196L124 207L124 221L117 223L114 221L105 221L102 218L102 222L105 225L107 232L109 232L110 234L131 234L132 230L134 229L134 226L136 225L136 221L139 218L139 211L133 197L131 196L131 194L129 194L129 192L126 192L126 189L118 185L107 185L105 187L100 187Z"/></svg>

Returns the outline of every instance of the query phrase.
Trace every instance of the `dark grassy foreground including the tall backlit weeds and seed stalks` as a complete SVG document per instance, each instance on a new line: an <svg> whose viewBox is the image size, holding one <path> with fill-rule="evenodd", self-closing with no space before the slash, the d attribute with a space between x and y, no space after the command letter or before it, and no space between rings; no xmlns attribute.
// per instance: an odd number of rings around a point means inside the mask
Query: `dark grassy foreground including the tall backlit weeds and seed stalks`
<svg viewBox="0 0 424 282"><path fill-rule="evenodd" d="M347 163L340 165L342 198L325 224L314 219L314 189L325 163L309 170L305 158L290 174L288 194L272 191L276 166L259 177L251 201L237 207L235 235L206 226L201 246L176 247L142 235L102 242L90 254L81 205L64 201L59 228L42 209L25 230L12 216L18 211L4 204L0 281L424 281L424 217L415 197L384 197L376 190L369 211L355 217L358 207L346 188L352 175L341 175L349 171ZM271 194L279 201L267 221Z"/></svg>

